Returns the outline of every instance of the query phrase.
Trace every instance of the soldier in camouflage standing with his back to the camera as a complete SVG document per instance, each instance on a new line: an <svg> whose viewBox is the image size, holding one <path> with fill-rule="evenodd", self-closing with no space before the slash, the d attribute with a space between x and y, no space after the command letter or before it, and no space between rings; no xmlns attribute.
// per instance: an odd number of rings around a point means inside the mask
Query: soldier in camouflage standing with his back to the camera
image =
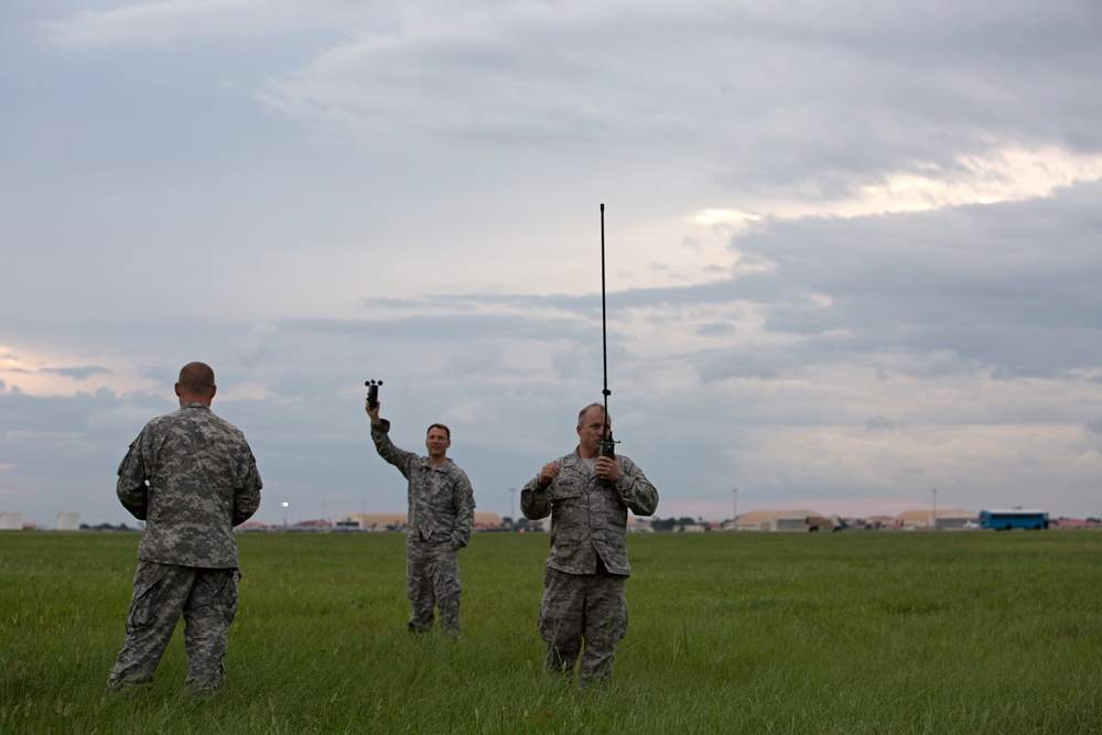
<svg viewBox="0 0 1102 735"><path fill-rule="evenodd" d="M119 465L119 500L145 532L110 690L152 681L181 614L185 684L196 695L225 684L241 576L234 527L257 511L261 482L245 435L210 411L216 390L214 370L185 365L175 385L180 410L147 423Z"/></svg>

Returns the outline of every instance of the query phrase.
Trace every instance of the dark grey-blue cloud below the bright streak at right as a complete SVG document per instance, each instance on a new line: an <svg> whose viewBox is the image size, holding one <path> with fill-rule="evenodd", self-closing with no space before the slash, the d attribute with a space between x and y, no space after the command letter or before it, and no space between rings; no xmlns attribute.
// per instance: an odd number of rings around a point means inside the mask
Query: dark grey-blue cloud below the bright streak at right
<svg viewBox="0 0 1102 735"><path fill-rule="evenodd" d="M950 212L775 223L738 241L778 263L726 289L814 359L949 350L1004 375L1102 364L1099 184ZM817 298L824 298L820 303Z"/></svg>

